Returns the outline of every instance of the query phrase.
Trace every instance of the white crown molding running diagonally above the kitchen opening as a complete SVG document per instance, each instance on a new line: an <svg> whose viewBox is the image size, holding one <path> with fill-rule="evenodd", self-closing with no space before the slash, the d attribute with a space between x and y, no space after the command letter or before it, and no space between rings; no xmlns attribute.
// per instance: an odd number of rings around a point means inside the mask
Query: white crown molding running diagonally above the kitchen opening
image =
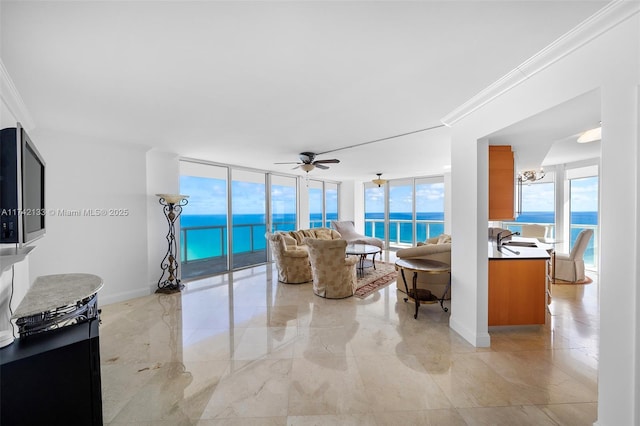
<svg viewBox="0 0 640 426"><path fill-rule="evenodd" d="M447 114L440 121L448 127L508 92L555 62L640 12L638 0L614 0L562 37L508 72L498 81Z"/></svg>

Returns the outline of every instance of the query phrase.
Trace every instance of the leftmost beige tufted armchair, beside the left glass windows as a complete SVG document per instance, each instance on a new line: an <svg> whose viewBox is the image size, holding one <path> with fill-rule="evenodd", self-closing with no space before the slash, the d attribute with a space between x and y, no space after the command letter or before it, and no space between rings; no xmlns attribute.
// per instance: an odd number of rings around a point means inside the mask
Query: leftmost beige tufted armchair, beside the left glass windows
<svg viewBox="0 0 640 426"><path fill-rule="evenodd" d="M306 249L287 245L284 234L267 234L273 258L278 269L278 281L301 284L311 281L311 265Z"/></svg>

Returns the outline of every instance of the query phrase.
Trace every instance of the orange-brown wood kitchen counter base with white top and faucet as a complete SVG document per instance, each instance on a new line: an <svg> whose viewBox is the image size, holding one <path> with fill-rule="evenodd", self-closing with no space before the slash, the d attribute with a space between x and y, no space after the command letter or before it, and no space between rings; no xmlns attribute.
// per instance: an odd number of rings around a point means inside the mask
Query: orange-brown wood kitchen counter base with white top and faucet
<svg viewBox="0 0 640 426"><path fill-rule="evenodd" d="M544 324L549 294L549 247L516 238L489 241L489 326Z"/></svg>

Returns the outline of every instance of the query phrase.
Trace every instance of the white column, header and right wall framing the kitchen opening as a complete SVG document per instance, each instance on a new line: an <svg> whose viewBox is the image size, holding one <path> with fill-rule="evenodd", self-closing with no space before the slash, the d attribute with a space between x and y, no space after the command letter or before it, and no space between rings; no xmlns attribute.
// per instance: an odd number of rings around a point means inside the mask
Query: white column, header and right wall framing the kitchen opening
<svg viewBox="0 0 640 426"><path fill-rule="evenodd" d="M473 141L482 141L487 134L583 93L601 90L599 283L603 291L597 424L607 426L640 422L636 408L640 399L637 393L640 357L636 343L640 316L637 269L640 18L637 12L631 16L605 34L570 50L557 62L536 70L528 79L463 118L454 126L452 142L452 225L456 244L452 247L451 326L471 342L477 342L482 341L486 330L483 324L487 314L486 232L469 223L482 222L486 203L473 197L469 188L473 179L464 179L458 171L476 171L477 179L483 180L486 160L478 153L473 158L474 155L464 155L463 151L471 151ZM486 197L484 184L478 185L478 191ZM480 240L484 241L484 249L477 244ZM466 247L460 248L461 245ZM471 264L469 259L473 260ZM475 274L460 271L456 264L475 268ZM472 281L464 281L469 279ZM460 312L465 309L472 311Z"/></svg>

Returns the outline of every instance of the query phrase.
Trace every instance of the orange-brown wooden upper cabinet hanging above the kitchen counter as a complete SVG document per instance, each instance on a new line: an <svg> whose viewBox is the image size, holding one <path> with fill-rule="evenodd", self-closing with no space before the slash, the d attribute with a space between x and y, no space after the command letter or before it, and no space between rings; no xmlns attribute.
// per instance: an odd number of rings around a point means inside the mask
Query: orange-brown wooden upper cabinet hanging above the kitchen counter
<svg viewBox="0 0 640 426"><path fill-rule="evenodd" d="M515 220L515 169L509 145L489 145L489 220Z"/></svg>

